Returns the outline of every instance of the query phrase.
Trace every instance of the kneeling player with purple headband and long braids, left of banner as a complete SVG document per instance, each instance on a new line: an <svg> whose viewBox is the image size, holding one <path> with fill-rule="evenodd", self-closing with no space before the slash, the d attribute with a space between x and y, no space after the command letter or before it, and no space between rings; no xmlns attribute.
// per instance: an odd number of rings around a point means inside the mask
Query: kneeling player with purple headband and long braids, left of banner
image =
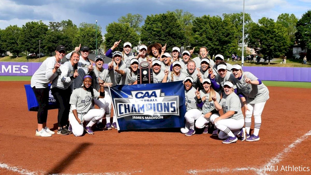
<svg viewBox="0 0 311 175"><path fill-rule="evenodd" d="M86 132L94 134L91 127L96 124L104 116L104 112L100 109L92 109L94 107L93 98L104 98L104 82L99 80L100 92L91 87L92 77L86 75L83 77L83 86L75 89L70 97L69 122L72 126L72 133L75 136L83 134L83 121L90 121L86 125Z"/></svg>

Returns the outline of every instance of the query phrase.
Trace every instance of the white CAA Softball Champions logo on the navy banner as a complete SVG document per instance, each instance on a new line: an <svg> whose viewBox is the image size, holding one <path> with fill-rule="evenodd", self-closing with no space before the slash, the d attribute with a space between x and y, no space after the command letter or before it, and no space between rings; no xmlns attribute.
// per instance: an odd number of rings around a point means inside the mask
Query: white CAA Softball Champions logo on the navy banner
<svg viewBox="0 0 311 175"><path fill-rule="evenodd" d="M179 96L165 96L161 89L131 91L128 98L114 98L117 118L126 116L179 116Z"/></svg>

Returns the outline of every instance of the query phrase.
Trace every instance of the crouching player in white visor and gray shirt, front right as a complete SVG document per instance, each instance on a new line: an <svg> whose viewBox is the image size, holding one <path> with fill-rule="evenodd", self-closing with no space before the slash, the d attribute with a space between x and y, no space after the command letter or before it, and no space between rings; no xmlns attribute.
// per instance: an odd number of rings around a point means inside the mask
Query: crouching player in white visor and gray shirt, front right
<svg viewBox="0 0 311 175"><path fill-rule="evenodd" d="M220 130L218 137L225 139L222 143L230 144L238 140L235 135L240 135L242 141L246 139L244 126L244 116L241 111L241 103L239 97L234 93L233 84L229 81L224 83L225 95L217 102L217 97L212 97L216 110L223 110L221 116L210 117L210 121Z"/></svg>

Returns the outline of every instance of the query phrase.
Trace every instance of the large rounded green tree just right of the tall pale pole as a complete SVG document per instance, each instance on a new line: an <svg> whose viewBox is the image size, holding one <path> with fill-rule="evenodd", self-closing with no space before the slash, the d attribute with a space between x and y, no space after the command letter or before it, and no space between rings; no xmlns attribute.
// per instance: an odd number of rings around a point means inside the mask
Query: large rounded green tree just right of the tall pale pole
<svg viewBox="0 0 311 175"><path fill-rule="evenodd" d="M290 45L286 28L266 17L252 23L249 29L248 47L253 48L257 54L269 58L284 55ZM270 59L269 59L270 64Z"/></svg>

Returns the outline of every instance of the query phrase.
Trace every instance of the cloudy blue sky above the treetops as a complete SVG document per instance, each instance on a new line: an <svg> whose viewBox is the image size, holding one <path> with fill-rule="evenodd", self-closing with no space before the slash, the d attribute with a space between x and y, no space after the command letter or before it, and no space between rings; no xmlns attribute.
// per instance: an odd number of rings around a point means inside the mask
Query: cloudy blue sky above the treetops
<svg viewBox="0 0 311 175"><path fill-rule="evenodd" d="M262 17L277 19L281 13L297 18L311 7L311 0L245 0L245 12L253 21ZM147 15L183 9L196 17L243 12L243 0L0 0L0 28L22 26L28 21L62 21L70 19L105 27L127 13Z"/></svg>

